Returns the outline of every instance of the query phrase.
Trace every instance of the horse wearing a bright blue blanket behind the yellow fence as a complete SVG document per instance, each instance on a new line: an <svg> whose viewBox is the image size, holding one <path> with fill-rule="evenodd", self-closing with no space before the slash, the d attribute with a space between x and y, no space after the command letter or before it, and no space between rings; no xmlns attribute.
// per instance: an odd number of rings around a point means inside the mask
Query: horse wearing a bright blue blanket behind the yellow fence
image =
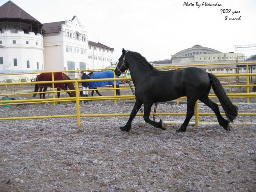
<svg viewBox="0 0 256 192"><path fill-rule="evenodd" d="M114 78L114 72L112 70L106 70L102 72L90 72L88 76L90 77L90 79ZM116 78L118 78L117 75ZM106 85L112 85L114 87L114 81L91 81L89 82L89 89L97 89L97 87L102 87ZM116 81L116 88L119 88L119 81ZM96 90L96 93L102 96L98 90ZM92 90L92 97L93 94L94 90ZM117 89L117 95L120 95L119 89Z"/></svg>

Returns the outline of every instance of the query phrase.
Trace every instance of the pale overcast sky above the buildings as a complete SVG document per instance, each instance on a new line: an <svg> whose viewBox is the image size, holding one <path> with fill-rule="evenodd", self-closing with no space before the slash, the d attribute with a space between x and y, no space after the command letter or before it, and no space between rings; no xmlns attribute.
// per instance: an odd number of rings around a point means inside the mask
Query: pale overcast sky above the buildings
<svg viewBox="0 0 256 192"><path fill-rule="evenodd" d="M12 1L42 24L76 15L90 41L114 48L114 60L122 48L156 61L197 44L223 53L236 52L234 45L256 45L256 0L207 0L221 6L203 6L206 1L200 0L186 1L192 6L184 6L183 0ZM0 5L6 2L0 0ZM250 49L237 53L256 54L256 47Z"/></svg>

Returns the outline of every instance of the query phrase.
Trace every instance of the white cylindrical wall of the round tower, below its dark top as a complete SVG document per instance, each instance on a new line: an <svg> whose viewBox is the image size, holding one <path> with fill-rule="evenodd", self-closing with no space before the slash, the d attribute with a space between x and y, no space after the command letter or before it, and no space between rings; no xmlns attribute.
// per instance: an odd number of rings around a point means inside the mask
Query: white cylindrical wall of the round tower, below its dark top
<svg viewBox="0 0 256 192"><path fill-rule="evenodd" d="M0 73L44 70L43 55L43 36L41 34L15 31L14 26L11 25L3 33L0 32ZM22 75L14 77L13 81L17 81L20 76ZM3 81L2 78L0 81Z"/></svg>

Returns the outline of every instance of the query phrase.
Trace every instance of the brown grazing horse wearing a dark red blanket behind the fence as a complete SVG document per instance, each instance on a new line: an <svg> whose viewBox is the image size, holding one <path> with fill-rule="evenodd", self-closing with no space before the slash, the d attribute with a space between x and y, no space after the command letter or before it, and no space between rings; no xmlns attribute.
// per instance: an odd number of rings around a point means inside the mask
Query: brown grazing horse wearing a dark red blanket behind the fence
<svg viewBox="0 0 256 192"><path fill-rule="evenodd" d="M62 72L54 72L54 81L64 81L64 80L71 80L66 74ZM52 80L52 73L41 73L40 75L36 76L36 81L53 81ZM42 89L44 88L43 92L47 91L47 87L53 87L52 83L40 83L35 85L35 90L33 94L33 98L36 97L38 90L39 92L42 92ZM75 90L75 86L72 82L66 82L66 83L54 83L54 87L57 88L57 91L60 91L61 89L66 91L69 88L70 90ZM75 97L75 92L67 92L67 94L70 97ZM40 99L42 99L42 93L39 93ZM60 92L57 92L58 98L60 97ZM43 98L45 99L45 93L43 93Z"/></svg>

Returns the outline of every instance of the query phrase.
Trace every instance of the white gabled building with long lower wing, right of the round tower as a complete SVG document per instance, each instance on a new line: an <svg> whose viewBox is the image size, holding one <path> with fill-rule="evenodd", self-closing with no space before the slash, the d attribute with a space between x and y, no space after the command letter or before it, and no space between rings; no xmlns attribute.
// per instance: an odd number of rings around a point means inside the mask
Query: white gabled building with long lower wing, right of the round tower
<svg viewBox="0 0 256 192"><path fill-rule="evenodd" d="M88 33L74 16L44 23L45 70L102 69L109 66L114 49L88 41Z"/></svg>

